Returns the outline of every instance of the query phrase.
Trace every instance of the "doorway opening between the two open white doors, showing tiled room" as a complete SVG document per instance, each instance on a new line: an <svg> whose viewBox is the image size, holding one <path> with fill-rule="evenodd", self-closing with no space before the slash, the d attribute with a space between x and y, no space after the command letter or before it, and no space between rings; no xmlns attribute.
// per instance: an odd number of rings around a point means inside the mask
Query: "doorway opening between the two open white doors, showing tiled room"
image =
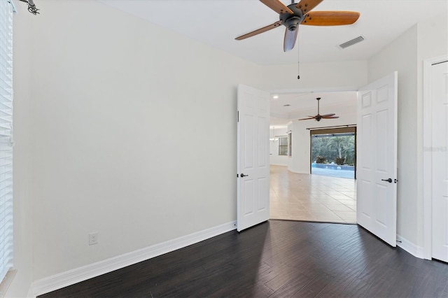
<svg viewBox="0 0 448 298"><path fill-rule="evenodd" d="M329 125L351 127L348 132L333 130L328 133L353 133L356 125L356 92L305 92L272 96L270 118L271 169L270 218L314 222L356 222L356 182L354 166L351 179L310 175L310 135L308 125L326 122L295 121L316 112L316 97L325 98L323 111L341 116ZM294 110L297 108L297 110ZM275 113L273 113L275 112ZM283 115L283 118L280 116ZM284 118L288 120L283 120ZM281 122L283 120L283 122ZM275 129L274 129L275 127ZM337 128L332 127L332 128ZM319 127L325 129L325 127ZM279 155L278 136L288 136L288 155ZM353 140L354 146L354 140ZM294 151L293 151L294 150ZM354 150L353 150L354 153ZM345 156L345 152L342 152ZM332 160L333 161L333 160ZM348 161L350 162L350 161ZM346 162L345 162L346 163Z"/></svg>

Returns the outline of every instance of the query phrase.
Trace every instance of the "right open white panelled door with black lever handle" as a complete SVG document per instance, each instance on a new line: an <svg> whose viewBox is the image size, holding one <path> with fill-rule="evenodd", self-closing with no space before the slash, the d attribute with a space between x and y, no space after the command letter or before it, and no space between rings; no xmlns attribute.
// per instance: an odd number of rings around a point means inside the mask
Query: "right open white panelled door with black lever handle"
<svg viewBox="0 0 448 298"><path fill-rule="evenodd" d="M396 246L397 72L358 90L356 221Z"/></svg>

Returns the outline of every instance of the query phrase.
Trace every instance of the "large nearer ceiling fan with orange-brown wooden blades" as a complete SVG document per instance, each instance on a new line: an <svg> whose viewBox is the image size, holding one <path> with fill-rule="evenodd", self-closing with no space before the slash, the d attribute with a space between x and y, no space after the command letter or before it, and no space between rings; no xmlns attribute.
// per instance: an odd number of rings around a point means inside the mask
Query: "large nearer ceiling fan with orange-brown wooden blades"
<svg viewBox="0 0 448 298"><path fill-rule="evenodd" d="M237 41L255 36L257 34L269 31L281 25L286 27L285 38L283 41L283 50L286 52L294 48L297 40L299 24L310 26L337 26L353 24L358 20L359 13L354 11L313 11L323 0L300 0L294 3L291 0L290 5L285 6L280 0L260 0L263 4L279 13L280 20L265 27L251 31L235 38Z"/></svg>

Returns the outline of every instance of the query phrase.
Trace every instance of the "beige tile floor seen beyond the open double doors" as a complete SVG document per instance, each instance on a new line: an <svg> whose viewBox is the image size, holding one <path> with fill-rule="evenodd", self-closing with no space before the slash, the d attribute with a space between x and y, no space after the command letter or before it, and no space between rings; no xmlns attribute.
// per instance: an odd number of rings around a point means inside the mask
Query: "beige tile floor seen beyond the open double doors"
<svg viewBox="0 0 448 298"><path fill-rule="evenodd" d="M354 179L293 173L271 166L270 218L356 223Z"/></svg>

